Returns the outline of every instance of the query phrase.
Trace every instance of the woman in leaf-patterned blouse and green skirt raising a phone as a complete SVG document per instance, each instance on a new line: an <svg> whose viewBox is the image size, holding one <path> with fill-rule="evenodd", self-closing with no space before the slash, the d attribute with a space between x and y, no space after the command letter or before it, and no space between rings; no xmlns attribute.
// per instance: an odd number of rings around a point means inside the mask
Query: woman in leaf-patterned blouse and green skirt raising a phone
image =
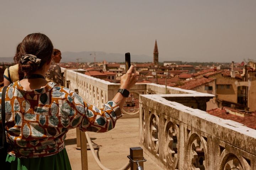
<svg viewBox="0 0 256 170"><path fill-rule="evenodd" d="M21 42L25 79L9 85L5 95L7 169L70 170L64 144L68 130L106 132L122 116L126 95L120 92L98 109L69 89L47 82L52 54L52 42L44 34L29 34ZM120 89L135 84L133 69L121 77Z"/></svg>

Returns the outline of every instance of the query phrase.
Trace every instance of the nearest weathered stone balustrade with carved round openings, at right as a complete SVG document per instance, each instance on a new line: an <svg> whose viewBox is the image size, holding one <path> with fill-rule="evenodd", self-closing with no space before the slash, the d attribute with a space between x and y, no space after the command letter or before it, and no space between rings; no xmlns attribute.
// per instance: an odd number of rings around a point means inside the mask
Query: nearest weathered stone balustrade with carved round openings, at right
<svg viewBox="0 0 256 170"><path fill-rule="evenodd" d="M139 142L144 152L170 170L255 170L256 130L197 109L209 97L140 95Z"/></svg>

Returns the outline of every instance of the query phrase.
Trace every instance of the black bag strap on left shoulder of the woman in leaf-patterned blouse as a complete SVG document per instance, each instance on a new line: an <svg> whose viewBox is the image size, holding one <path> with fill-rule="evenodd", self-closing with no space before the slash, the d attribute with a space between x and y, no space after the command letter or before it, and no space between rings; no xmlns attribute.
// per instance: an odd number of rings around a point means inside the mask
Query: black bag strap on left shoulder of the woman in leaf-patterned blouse
<svg viewBox="0 0 256 170"><path fill-rule="evenodd" d="M2 146L5 147L7 142L6 142L6 137L5 137L5 94L6 94L6 89L8 86L4 86L2 89L2 96L1 96L1 116L2 116Z"/></svg>

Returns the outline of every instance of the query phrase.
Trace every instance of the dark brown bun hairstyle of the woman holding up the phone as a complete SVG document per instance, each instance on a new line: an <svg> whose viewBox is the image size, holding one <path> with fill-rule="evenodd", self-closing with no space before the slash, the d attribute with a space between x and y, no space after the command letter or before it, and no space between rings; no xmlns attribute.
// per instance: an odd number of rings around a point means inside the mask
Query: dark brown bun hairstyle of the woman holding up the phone
<svg viewBox="0 0 256 170"><path fill-rule="evenodd" d="M50 63L53 54L52 41L46 35L41 33L27 35L21 42L20 56L29 54L41 59L41 62L39 65L31 61L22 63L22 71L26 75L33 74L33 72L42 68L45 63Z"/></svg>

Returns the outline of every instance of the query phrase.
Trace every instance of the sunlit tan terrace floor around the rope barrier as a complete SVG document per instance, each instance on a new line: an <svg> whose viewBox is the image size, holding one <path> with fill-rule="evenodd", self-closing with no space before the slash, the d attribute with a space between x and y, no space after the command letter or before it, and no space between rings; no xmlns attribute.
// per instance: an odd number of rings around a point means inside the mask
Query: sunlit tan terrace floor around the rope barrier
<svg viewBox="0 0 256 170"><path fill-rule="evenodd" d="M128 162L130 147L139 145L139 119L119 119L116 127L106 133L90 132L92 141L100 145L98 155L100 155L101 163L108 169L119 169ZM73 170L81 170L80 151L76 150L76 130L69 130L66 140L66 150ZM88 169L101 170L95 162L90 150L87 150ZM147 161L144 163L145 170L162 170L156 165L152 159L144 153Z"/></svg>

